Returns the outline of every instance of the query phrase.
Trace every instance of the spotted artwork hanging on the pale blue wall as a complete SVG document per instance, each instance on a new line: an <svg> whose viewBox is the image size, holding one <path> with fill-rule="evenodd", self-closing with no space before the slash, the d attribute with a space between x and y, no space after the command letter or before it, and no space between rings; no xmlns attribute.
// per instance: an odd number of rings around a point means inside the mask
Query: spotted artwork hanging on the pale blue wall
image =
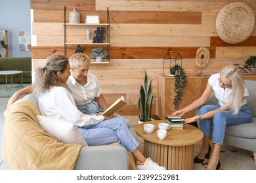
<svg viewBox="0 0 256 183"><path fill-rule="evenodd" d="M31 33L28 31L19 31L18 50L20 52L31 52Z"/></svg>

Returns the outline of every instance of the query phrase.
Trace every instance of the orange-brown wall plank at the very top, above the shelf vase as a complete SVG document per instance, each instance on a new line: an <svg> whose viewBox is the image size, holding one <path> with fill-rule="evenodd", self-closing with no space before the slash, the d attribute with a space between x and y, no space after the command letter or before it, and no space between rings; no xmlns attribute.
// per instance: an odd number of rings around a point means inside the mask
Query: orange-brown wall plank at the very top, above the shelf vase
<svg viewBox="0 0 256 183"><path fill-rule="evenodd" d="M68 8L80 7L83 10L95 10L95 0L31 0L30 7L32 9L52 9L52 10L61 10L64 9L64 6ZM105 8L106 9L106 8Z"/></svg>

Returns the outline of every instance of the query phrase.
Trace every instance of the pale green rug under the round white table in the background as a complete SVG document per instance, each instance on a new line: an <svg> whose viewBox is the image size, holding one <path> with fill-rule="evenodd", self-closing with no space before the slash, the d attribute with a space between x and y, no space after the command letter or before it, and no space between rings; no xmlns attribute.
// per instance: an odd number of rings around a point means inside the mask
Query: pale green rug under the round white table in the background
<svg viewBox="0 0 256 183"><path fill-rule="evenodd" d="M9 98L18 90L30 85L31 84L23 84L23 87L22 87L21 84L12 84L12 86L11 84L8 84L7 90L6 90L6 85L0 84L0 98Z"/></svg>

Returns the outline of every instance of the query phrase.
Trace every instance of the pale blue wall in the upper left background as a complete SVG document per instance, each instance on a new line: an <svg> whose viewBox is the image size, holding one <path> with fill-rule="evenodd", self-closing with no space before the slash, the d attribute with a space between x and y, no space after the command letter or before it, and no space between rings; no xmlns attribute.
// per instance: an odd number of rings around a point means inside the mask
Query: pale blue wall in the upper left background
<svg viewBox="0 0 256 183"><path fill-rule="evenodd" d="M19 31L31 31L30 0L0 0L0 31L8 30L9 57L31 57L31 52L20 52ZM3 33L0 33L3 40ZM0 47L3 56L3 48Z"/></svg>

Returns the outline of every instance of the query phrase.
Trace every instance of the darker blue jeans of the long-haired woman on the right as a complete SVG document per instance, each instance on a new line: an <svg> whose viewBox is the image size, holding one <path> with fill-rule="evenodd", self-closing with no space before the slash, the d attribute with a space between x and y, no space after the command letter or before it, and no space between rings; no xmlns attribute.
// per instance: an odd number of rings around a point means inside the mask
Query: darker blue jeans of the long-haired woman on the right
<svg viewBox="0 0 256 183"><path fill-rule="evenodd" d="M219 105L205 105L199 110L199 115L203 115L211 110L220 108ZM252 116L248 105L240 108L238 114L232 115L230 110L221 110L217 112L213 118L199 121L199 128L203 132L203 136L209 136L211 125L213 124L213 143L223 145L226 125L239 125L251 122Z"/></svg>

